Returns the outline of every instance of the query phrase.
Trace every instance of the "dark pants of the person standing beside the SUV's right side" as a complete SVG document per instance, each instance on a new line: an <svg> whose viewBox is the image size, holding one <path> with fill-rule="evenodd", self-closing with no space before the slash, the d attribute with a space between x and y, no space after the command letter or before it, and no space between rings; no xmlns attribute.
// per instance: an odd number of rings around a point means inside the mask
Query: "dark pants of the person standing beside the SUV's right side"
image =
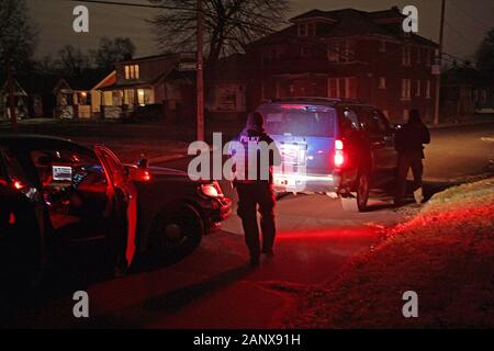
<svg viewBox="0 0 494 351"><path fill-rule="evenodd" d="M412 168L414 174L414 191L422 188L422 176L424 166L422 163L422 152L404 152L400 154L396 180L396 195L395 202L402 203L406 194L406 177Z"/></svg>

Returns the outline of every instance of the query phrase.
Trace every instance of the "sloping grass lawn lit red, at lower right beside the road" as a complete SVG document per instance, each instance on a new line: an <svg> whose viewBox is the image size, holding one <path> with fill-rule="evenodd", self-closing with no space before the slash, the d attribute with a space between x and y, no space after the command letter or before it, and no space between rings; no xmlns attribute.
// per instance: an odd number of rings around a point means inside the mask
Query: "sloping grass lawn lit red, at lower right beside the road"
<svg viewBox="0 0 494 351"><path fill-rule="evenodd" d="M402 295L418 294L418 318ZM494 179L436 194L336 282L301 290L290 328L493 328Z"/></svg>

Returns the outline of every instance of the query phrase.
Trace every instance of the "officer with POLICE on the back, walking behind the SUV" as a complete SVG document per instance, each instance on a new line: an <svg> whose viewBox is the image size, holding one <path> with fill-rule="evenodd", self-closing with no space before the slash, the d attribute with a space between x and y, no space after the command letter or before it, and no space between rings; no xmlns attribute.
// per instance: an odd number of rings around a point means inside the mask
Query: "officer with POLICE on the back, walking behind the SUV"
<svg viewBox="0 0 494 351"><path fill-rule="evenodd" d="M234 140L242 144L245 152L242 158L238 157L239 155L232 155L236 168L236 178L233 183L238 193L237 214L242 218L245 242L250 252L250 263L258 265L261 252L268 257L273 256L276 197L272 191L272 167L281 163L281 156L274 141L265 133L263 117L257 112L249 114L245 128ZM269 149L260 148L256 151L256 147L262 141L266 143L265 146L270 146ZM254 155L252 150L257 155ZM263 158L260 152L269 152L269 155ZM261 165L262 159L269 159L269 165L265 165L268 167ZM238 162L243 162L243 165L238 165ZM255 179L249 177L251 176L249 169L252 167L257 167ZM243 177L238 177L239 169L242 169L240 176ZM259 241L257 211L261 215L262 248Z"/></svg>

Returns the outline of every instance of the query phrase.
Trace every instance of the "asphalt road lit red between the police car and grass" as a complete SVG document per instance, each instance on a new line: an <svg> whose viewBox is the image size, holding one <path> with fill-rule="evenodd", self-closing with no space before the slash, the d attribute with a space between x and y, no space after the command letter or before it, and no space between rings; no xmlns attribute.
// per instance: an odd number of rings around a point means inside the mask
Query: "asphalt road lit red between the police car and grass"
<svg viewBox="0 0 494 351"><path fill-rule="evenodd" d="M433 131L433 144L426 150L428 192L489 171L494 157L493 137L493 125ZM162 166L184 169L187 160ZM222 185L235 197L227 184ZM297 290L334 280L346 262L379 242L383 228L403 222L404 216L404 212L386 203L378 202L369 213L358 214L344 212L338 200L323 195L287 196L277 207L276 257L263 260L258 269L246 264L242 227L233 215L179 263L112 281L81 283L76 279L74 284L61 284L61 279L56 288L24 296L31 303L9 309L7 325L277 327L283 314L290 312ZM70 274L74 278L79 273ZM76 290L89 293L87 320L72 316L71 294Z"/></svg>

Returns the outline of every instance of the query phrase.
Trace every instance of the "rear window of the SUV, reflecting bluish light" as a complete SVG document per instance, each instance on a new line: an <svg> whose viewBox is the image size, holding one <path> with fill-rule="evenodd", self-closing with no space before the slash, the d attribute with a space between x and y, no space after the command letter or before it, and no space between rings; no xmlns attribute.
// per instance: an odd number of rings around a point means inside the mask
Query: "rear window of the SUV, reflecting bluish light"
<svg viewBox="0 0 494 351"><path fill-rule="evenodd" d="M329 106L267 105L259 109L268 134L334 137L336 112Z"/></svg>

